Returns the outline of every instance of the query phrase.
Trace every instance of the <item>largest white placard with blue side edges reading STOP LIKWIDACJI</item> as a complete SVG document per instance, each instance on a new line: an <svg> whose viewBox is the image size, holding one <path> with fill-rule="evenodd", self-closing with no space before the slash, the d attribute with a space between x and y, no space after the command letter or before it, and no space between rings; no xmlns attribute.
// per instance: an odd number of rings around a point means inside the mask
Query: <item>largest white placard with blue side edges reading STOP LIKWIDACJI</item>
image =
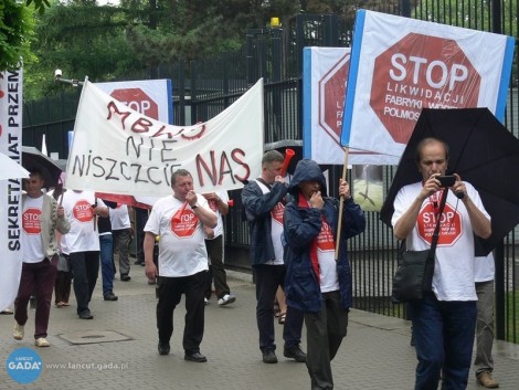
<svg viewBox="0 0 519 390"><path fill-rule="evenodd" d="M515 39L360 10L341 145L400 157L422 108L488 107L504 120Z"/></svg>

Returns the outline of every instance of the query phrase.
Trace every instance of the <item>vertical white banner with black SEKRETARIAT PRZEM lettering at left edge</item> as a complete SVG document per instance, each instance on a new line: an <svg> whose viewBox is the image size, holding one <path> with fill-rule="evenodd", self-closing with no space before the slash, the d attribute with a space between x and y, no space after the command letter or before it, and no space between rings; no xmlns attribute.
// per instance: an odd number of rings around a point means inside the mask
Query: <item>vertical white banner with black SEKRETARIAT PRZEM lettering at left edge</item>
<svg viewBox="0 0 519 390"><path fill-rule="evenodd" d="M21 162L22 71L0 73L0 152ZM0 180L0 310L12 305L22 271L20 200L22 180Z"/></svg>

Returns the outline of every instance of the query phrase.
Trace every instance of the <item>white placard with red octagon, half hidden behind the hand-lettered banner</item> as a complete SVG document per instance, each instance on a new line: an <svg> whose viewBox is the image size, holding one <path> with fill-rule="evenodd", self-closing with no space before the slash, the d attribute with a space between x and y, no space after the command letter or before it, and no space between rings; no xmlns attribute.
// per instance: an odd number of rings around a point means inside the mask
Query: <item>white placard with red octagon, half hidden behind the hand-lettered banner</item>
<svg viewBox="0 0 519 390"><path fill-rule="evenodd" d="M173 123L171 80L95 83L95 86L142 115Z"/></svg>

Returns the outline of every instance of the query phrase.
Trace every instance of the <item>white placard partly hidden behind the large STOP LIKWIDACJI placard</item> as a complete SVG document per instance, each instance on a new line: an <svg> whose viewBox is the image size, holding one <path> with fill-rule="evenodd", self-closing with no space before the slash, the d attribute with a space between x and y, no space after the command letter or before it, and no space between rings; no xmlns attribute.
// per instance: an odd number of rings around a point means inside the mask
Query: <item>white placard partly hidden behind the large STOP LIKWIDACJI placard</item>
<svg viewBox="0 0 519 390"><path fill-rule="evenodd" d="M303 50L303 157L318 164L343 165L340 144L349 48ZM399 158L350 149L348 164L398 164Z"/></svg>

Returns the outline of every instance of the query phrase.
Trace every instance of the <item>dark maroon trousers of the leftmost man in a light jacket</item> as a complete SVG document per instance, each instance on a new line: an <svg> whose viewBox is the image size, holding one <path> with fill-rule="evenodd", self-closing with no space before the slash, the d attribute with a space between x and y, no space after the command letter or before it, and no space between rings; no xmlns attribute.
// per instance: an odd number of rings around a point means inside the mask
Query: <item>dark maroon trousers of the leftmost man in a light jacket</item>
<svg viewBox="0 0 519 390"><path fill-rule="evenodd" d="M20 325L28 320L28 304L31 295L36 296L34 338L46 337L51 315L52 291L57 272L57 255L39 263L23 263L18 296L14 299L14 319Z"/></svg>

